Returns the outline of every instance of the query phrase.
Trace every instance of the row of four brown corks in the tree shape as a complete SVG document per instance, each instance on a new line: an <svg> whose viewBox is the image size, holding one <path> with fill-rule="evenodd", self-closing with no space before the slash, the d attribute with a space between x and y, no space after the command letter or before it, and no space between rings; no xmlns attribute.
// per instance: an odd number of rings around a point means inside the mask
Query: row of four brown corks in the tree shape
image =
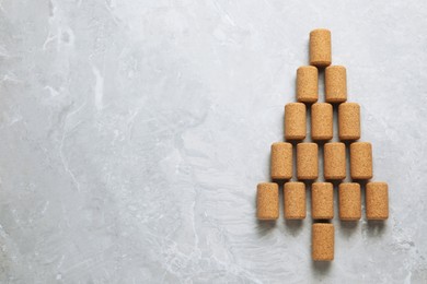
<svg viewBox="0 0 427 284"><path fill-rule="evenodd" d="M292 144L276 142L272 145L270 175L273 180L288 180L293 173ZM330 142L323 146L323 173L326 180L343 180L347 175L346 146ZM350 176L353 179L372 178L372 145L369 142L350 144ZM299 180L315 180L319 177L319 145L303 142L297 144L297 177Z"/></svg>

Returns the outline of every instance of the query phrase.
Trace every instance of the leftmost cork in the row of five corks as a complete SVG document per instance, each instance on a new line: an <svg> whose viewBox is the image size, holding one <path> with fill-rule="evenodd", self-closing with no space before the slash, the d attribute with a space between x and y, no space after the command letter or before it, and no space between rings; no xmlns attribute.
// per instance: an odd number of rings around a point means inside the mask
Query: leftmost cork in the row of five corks
<svg viewBox="0 0 427 284"><path fill-rule="evenodd" d="M256 190L256 217L258 220L277 220L279 217L279 186L277 184L258 184Z"/></svg>

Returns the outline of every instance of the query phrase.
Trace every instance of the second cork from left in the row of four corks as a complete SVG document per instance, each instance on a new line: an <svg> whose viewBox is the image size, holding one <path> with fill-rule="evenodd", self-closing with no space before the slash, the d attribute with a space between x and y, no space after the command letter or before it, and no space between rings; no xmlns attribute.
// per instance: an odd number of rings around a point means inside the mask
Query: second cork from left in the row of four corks
<svg viewBox="0 0 427 284"><path fill-rule="evenodd" d="M297 177L298 179L316 179L319 175L316 143L297 144Z"/></svg>

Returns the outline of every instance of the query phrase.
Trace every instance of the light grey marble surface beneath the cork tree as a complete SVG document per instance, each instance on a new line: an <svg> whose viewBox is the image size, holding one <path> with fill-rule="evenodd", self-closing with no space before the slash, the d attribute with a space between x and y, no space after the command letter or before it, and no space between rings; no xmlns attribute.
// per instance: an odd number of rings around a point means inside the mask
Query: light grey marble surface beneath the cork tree
<svg viewBox="0 0 427 284"><path fill-rule="evenodd" d="M310 210L255 220L315 27L390 186L331 264ZM422 0L1 0L0 281L426 283L426 31Z"/></svg>

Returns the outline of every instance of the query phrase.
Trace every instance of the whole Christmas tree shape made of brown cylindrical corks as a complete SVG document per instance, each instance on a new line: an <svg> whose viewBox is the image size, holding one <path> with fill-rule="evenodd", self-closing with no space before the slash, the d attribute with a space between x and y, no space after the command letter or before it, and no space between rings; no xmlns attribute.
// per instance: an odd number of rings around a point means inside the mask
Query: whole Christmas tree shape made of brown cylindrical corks
<svg viewBox="0 0 427 284"><path fill-rule="evenodd" d="M319 71L324 70L325 103L319 100ZM334 259L334 186L338 184L339 220L361 218L361 187L366 181L366 217L386 220L389 200L386 182L370 181L372 145L358 141L360 106L347 102L347 71L332 66L331 32L320 28L310 33L310 66L297 69L297 102L285 106L285 142L272 144L270 182L257 186L257 218L279 217L279 190L284 184L285 218L307 216L305 186L311 185L312 259ZM334 133L334 108L338 115L338 133ZM307 119L311 114L310 120ZM310 133L307 132L310 123ZM335 135L334 135L335 134ZM337 137L339 142L332 142ZM311 140L311 141L310 141ZM296 156L293 156L296 149ZM320 151L323 150L323 151ZM348 152L347 152L348 150ZM323 164L319 164L323 153ZM349 153L349 156L346 155ZM293 161L293 158L296 161ZM349 158L349 177L346 161ZM296 162L296 163L293 163ZM293 165L297 175L293 176ZM319 167L323 166L323 176Z"/></svg>

